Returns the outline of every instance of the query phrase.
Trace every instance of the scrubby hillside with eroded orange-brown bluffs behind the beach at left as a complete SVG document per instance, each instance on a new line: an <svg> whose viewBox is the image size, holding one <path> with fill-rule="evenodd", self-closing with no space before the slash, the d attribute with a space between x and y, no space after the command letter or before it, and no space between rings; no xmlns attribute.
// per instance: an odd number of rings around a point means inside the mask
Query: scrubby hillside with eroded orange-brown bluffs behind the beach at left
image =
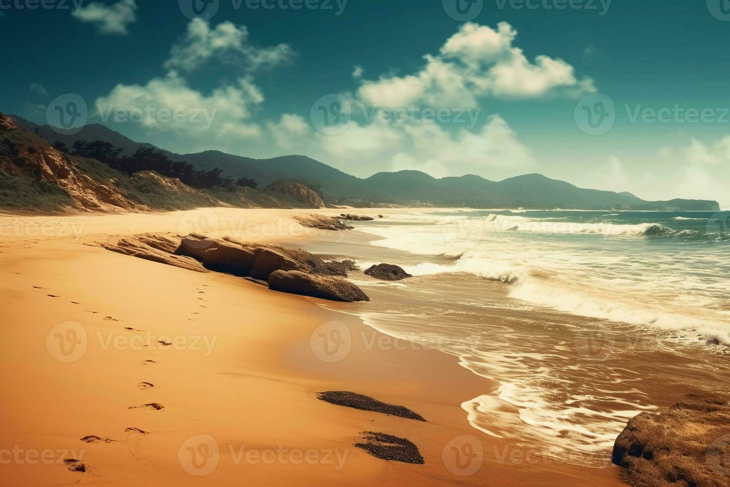
<svg viewBox="0 0 730 487"><path fill-rule="evenodd" d="M319 196L295 183L256 191L237 185L192 188L141 170L128 174L72 156L0 113L0 209L21 212L186 210L195 207L320 208Z"/></svg>

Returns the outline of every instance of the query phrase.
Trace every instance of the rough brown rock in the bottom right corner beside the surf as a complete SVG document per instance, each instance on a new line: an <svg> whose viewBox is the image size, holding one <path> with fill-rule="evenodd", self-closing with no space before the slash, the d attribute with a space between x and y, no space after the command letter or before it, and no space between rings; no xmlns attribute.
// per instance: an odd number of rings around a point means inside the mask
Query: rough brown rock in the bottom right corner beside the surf
<svg viewBox="0 0 730 487"><path fill-rule="evenodd" d="M659 414L629 421L613 462L632 486L730 485L730 395L699 391Z"/></svg>

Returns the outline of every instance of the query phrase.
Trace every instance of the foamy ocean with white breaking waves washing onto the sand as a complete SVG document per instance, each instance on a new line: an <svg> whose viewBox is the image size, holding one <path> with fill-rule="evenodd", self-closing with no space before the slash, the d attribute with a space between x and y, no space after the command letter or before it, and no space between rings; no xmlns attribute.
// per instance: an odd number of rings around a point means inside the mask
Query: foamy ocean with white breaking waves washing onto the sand
<svg viewBox="0 0 730 487"><path fill-rule="evenodd" d="M310 250L414 275L351 275L372 298L358 314L488 379L462 404L475 429L600 467L629 418L730 383L729 223L730 212L404 211Z"/></svg>

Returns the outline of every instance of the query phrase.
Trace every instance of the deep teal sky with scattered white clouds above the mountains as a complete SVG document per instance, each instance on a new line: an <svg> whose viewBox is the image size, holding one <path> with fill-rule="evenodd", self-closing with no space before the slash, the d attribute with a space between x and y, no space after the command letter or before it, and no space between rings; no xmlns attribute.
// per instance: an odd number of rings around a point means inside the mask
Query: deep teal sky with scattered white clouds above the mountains
<svg viewBox="0 0 730 487"><path fill-rule="evenodd" d="M0 111L358 177L539 172L730 207L727 3L0 0Z"/></svg>

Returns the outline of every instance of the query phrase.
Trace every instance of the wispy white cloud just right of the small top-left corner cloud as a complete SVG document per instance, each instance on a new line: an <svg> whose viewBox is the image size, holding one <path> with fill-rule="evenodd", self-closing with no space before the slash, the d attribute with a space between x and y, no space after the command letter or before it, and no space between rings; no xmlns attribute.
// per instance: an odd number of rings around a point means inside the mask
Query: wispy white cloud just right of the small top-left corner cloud
<svg viewBox="0 0 730 487"><path fill-rule="evenodd" d="M273 47L250 45L246 26L223 22L211 28L207 21L195 19L188 24L185 36L172 47L165 67L190 72L215 58L229 64L240 64L245 69L258 69L282 64L292 56L291 47L285 44Z"/></svg>

